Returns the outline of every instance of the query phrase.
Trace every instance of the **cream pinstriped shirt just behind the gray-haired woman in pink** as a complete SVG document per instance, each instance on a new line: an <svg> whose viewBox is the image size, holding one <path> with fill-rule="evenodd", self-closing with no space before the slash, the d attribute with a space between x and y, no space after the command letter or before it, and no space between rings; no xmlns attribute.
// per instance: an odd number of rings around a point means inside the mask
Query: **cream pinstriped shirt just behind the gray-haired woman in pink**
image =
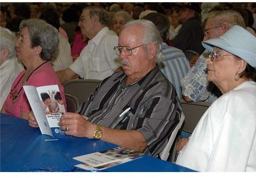
<svg viewBox="0 0 256 178"><path fill-rule="evenodd" d="M58 34L59 44L56 52L52 56L50 63L55 72L59 70L67 69L72 63L73 58L71 56L71 47L68 40L62 35Z"/></svg>

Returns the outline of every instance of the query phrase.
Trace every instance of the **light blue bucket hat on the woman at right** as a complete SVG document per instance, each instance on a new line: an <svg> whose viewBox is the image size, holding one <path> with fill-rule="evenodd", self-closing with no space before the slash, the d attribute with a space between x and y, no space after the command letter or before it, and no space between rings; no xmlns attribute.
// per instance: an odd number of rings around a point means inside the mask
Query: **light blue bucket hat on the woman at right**
<svg viewBox="0 0 256 178"><path fill-rule="evenodd" d="M256 68L256 37L241 26L233 26L218 38L202 42L209 52L218 47L245 60L250 66Z"/></svg>

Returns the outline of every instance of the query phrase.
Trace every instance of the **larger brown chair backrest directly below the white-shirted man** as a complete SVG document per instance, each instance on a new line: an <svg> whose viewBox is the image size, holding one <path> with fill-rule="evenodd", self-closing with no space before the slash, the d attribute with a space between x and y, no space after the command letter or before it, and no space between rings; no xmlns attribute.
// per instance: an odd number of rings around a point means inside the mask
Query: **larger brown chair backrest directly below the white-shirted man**
<svg viewBox="0 0 256 178"><path fill-rule="evenodd" d="M101 80L75 79L68 80L62 85L64 86L65 93L76 96L79 104L82 104L95 91L100 82Z"/></svg>

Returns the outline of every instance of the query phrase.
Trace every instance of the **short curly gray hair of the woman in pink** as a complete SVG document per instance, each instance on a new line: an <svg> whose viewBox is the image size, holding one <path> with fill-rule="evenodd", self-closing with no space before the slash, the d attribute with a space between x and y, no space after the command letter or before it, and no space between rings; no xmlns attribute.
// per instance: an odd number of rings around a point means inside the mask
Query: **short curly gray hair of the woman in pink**
<svg viewBox="0 0 256 178"><path fill-rule="evenodd" d="M51 60L52 55L58 48L58 30L44 20L39 19L22 20L20 31L25 27L29 29L31 47L41 46L41 59Z"/></svg>

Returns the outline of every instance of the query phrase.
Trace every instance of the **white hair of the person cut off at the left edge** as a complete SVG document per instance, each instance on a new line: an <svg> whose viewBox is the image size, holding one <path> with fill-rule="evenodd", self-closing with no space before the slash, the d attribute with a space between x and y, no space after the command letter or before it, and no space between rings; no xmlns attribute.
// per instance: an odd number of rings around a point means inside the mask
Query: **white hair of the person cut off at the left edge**
<svg viewBox="0 0 256 178"><path fill-rule="evenodd" d="M13 34L11 31L9 31L6 28L1 27L0 28L0 48L1 50L5 47L9 48L9 55L7 56L7 60L12 59L13 57L16 57L15 52L15 34Z"/></svg>

